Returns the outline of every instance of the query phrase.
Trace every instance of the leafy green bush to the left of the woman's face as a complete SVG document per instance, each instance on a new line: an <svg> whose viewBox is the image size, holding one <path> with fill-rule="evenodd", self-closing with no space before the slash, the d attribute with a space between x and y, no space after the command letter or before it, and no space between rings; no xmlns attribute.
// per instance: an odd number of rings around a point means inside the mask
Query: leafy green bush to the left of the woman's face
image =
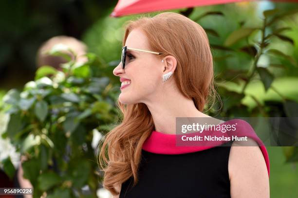
<svg viewBox="0 0 298 198"><path fill-rule="evenodd" d="M55 46L49 53L65 57ZM63 51L63 52L64 52ZM73 53L69 51L69 53ZM74 54L75 55L75 54ZM24 178L34 186L34 197L74 197L88 185L90 196L99 188L95 151L91 145L93 129L110 126L117 118L115 96L119 86L94 54L78 63L69 59L63 71L51 66L37 70L35 81L23 90L9 90L3 97L2 110L10 114L2 135L10 138L21 155ZM3 162L9 177L14 176L10 158ZM76 193L75 193L76 192Z"/></svg>

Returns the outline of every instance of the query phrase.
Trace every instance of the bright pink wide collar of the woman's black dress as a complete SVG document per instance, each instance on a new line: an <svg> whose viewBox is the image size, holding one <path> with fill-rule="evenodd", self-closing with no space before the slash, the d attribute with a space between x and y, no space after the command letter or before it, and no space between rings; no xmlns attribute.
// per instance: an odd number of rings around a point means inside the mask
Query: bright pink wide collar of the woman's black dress
<svg viewBox="0 0 298 198"><path fill-rule="evenodd" d="M269 156L268 156L266 147L264 146L261 139L257 136L254 129L250 126L249 123L241 119L229 120L222 124L231 124L231 123L237 123L236 132L238 137L247 136L255 140L260 145L261 152L265 159L268 175L269 175L269 169L270 169ZM203 133L204 133L204 130L203 130ZM224 135L229 136L228 133L224 133ZM177 138L178 138L178 135L176 134L166 134L166 133L153 130L149 138L144 142L142 149L156 154L174 155L174 154L184 154L184 153L202 151L216 146L214 144L211 146L210 144L209 146L176 146ZM205 142L207 143L207 141ZM228 142L228 141L218 142L217 145L223 144L225 142Z"/></svg>

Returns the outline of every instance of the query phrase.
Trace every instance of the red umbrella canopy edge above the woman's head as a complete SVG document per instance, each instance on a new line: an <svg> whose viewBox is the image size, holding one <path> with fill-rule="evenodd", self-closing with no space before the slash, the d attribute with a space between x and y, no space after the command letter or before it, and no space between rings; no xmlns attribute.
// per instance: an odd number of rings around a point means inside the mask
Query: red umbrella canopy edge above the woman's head
<svg viewBox="0 0 298 198"><path fill-rule="evenodd" d="M110 16L120 17L125 15L148 13L154 11L189 8L222 3L232 3L240 1L247 0L119 0ZM298 0L273 1L297 2Z"/></svg>

